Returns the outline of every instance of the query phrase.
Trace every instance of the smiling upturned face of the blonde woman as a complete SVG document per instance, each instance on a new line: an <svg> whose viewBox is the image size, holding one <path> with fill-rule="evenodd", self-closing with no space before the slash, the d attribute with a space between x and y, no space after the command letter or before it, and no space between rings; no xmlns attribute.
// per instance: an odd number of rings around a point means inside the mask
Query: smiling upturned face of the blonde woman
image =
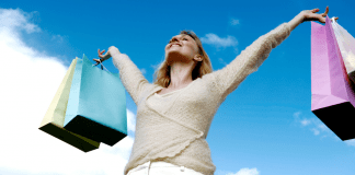
<svg viewBox="0 0 355 175"><path fill-rule="evenodd" d="M165 59L169 65L175 61L191 62L198 54L196 42L188 35L176 35L165 46Z"/></svg>

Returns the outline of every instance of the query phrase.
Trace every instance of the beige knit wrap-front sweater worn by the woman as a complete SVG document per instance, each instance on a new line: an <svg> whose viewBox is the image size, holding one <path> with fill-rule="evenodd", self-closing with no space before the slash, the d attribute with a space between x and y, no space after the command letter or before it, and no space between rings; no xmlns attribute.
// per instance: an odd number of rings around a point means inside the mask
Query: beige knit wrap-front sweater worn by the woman
<svg viewBox="0 0 355 175"><path fill-rule="evenodd" d="M206 137L219 105L289 33L284 23L259 37L225 68L163 95L157 94L163 88L149 83L127 55L112 50L113 63L137 105L136 138L124 174L148 161L214 174Z"/></svg>

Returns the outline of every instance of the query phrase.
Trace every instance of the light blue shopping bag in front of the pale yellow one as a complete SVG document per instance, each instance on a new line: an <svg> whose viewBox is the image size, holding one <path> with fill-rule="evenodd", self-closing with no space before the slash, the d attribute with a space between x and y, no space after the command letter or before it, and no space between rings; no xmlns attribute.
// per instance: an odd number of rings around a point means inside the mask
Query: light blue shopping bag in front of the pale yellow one
<svg viewBox="0 0 355 175"><path fill-rule="evenodd" d="M127 136L126 94L118 73L93 67L85 56L78 59L64 126L108 145L124 139Z"/></svg>

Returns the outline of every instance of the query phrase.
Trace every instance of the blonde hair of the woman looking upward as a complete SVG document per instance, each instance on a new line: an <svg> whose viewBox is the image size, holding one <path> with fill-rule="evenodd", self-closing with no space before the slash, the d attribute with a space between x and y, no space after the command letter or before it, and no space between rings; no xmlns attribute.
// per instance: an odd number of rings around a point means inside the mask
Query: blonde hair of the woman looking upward
<svg viewBox="0 0 355 175"><path fill-rule="evenodd" d="M203 57L202 61L198 61L192 71L192 79L202 78L203 75L213 72L213 67L207 56L207 52L204 50L199 38L192 31L182 31L182 35L191 36L197 44L198 54ZM170 66L167 62L167 59L160 63L158 70L154 72L154 84L158 84L163 88L168 88L170 84Z"/></svg>

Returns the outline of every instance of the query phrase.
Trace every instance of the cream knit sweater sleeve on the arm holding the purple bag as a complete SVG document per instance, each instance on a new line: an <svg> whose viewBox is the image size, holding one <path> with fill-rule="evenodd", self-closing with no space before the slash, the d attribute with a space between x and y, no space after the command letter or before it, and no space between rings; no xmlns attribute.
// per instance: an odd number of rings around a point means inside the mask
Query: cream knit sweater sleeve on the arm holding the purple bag
<svg viewBox="0 0 355 175"><path fill-rule="evenodd" d="M260 36L225 68L213 72L221 100L234 91L250 73L255 72L268 57L271 50L286 39L289 34L288 24L280 24L267 34Z"/></svg>

